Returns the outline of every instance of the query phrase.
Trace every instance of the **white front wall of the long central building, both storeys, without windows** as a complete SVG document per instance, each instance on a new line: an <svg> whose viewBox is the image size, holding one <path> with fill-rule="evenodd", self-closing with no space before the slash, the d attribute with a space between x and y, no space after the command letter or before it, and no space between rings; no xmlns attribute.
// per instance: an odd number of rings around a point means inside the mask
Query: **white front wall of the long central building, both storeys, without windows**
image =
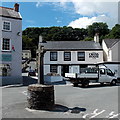
<svg viewBox="0 0 120 120"><path fill-rule="evenodd" d="M80 65L82 64L95 64L98 62L103 62L103 51L85 51L85 61L78 61L77 59L78 51L71 51L71 61L64 61L64 51L57 52L57 61L50 61L50 51L47 51L44 55L44 75L50 73L50 65L57 65L58 74L61 75L62 65L69 65L70 73L79 73ZM83 52L83 51L81 51ZM89 53L96 52L99 54L99 58L89 58Z"/></svg>

